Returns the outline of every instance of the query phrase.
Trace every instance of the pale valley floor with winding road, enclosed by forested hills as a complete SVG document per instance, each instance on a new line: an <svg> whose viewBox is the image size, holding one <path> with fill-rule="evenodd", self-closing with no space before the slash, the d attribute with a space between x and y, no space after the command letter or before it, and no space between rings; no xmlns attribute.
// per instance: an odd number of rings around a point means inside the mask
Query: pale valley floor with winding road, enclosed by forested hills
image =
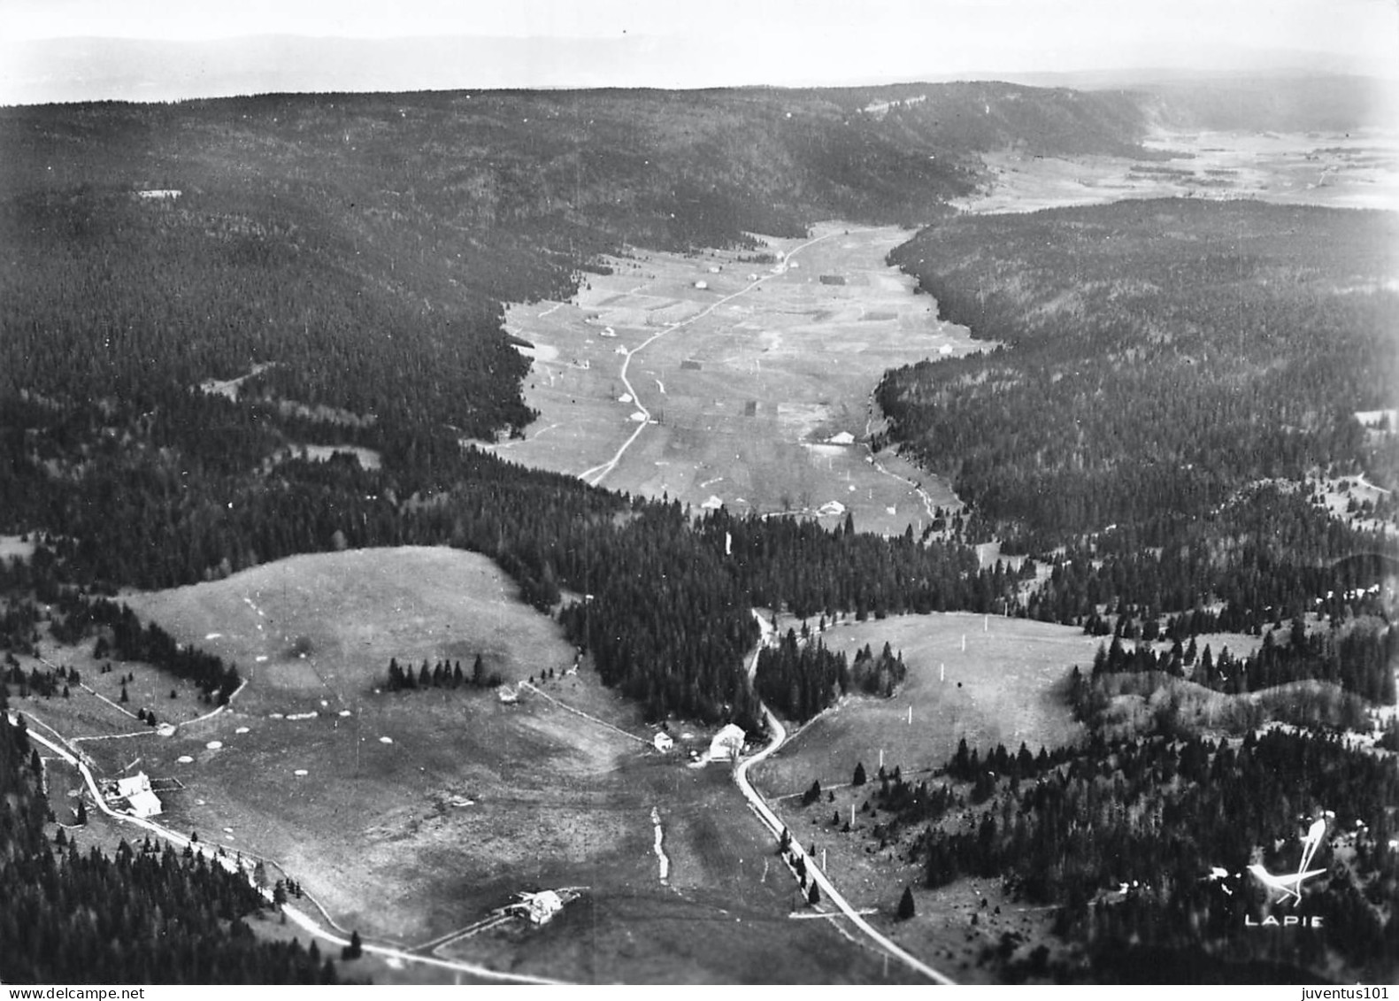
<svg viewBox="0 0 1399 1001"><path fill-rule="evenodd" d="M928 510L905 479L921 483L930 504L956 497L893 456L886 465L898 475L869 462L860 441L877 419L870 391L890 367L985 344L940 323L933 301L884 265L908 235L824 224L813 230L818 242L774 263L727 251L616 259L613 274L589 276L571 302L511 307L508 329L534 346L525 399L541 416L526 441L497 449L583 473L637 430L639 398L658 423L604 486L695 507L715 498L740 512L814 512L838 501L862 529L916 528ZM788 255L806 242L769 239L765 252ZM625 351L656 333L628 367L634 398L620 377ZM855 442L827 441L842 433Z"/></svg>

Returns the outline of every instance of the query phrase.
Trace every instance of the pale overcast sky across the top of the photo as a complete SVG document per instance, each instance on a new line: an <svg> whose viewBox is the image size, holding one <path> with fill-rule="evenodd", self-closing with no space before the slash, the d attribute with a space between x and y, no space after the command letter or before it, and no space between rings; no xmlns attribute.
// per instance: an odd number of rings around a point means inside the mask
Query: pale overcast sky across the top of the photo
<svg viewBox="0 0 1399 1001"><path fill-rule="evenodd" d="M1399 74L1399 0L0 0L0 102L132 97L123 88L133 85L155 98L197 97L190 91L229 85L235 63L242 87L347 88L344 60L322 66L309 41L271 52L229 42L257 35L438 39L435 56L402 42L354 46L375 90L841 84L1128 67ZM492 52L478 42L495 38L527 43ZM91 39L190 42L183 57L197 66L151 59L171 46ZM470 57L443 59L443 39Z"/></svg>

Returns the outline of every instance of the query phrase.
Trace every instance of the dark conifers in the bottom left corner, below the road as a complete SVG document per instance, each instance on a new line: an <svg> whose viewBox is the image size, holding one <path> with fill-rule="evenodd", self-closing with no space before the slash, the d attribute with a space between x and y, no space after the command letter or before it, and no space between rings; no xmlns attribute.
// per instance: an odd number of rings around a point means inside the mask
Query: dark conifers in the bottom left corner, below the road
<svg viewBox="0 0 1399 1001"><path fill-rule="evenodd" d="M269 907L242 874L203 853L83 851L48 823L42 764L0 693L0 980L78 984L334 984L315 944L255 937ZM48 832L53 827L57 843Z"/></svg>

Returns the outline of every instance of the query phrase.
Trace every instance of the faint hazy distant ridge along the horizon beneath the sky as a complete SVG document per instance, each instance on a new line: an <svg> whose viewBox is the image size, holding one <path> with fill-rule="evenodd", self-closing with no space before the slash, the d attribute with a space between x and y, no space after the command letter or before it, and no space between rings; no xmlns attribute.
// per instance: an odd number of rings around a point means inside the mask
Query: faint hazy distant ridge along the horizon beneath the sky
<svg viewBox="0 0 1399 1001"><path fill-rule="evenodd" d="M702 90L739 87L879 87L912 81L1004 81L1073 90L1161 87L1233 88L1269 81L1350 80L1375 92L1399 88L1399 69L1343 62L1333 55L1260 53L1216 46L1186 66L1025 71L953 70L929 59L926 71L849 74L813 66L806 78L705 77L702 43L677 38L469 38L388 39L250 35L217 41L63 38L24 43L0 39L0 104L179 101L252 94L414 92L442 90ZM687 69L688 67L688 69ZM1392 119L1391 119L1392 120ZM1382 122L1377 122L1379 125Z"/></svg>

